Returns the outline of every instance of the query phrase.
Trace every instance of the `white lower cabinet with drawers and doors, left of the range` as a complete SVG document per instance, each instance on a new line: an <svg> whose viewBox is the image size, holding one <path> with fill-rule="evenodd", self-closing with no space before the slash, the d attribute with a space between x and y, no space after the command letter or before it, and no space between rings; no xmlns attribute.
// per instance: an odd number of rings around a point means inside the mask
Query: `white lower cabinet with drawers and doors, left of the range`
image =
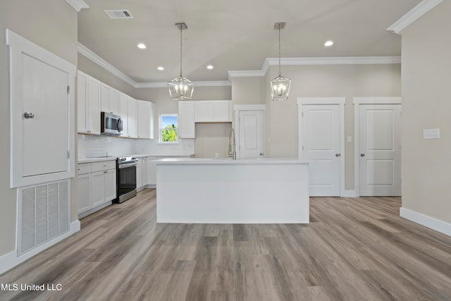
<svg viewBox="0 0 451 301"><path fill-rule="evenodd" d="M83 217L116 199L116 162L78 164L78 216Z"/></svg>

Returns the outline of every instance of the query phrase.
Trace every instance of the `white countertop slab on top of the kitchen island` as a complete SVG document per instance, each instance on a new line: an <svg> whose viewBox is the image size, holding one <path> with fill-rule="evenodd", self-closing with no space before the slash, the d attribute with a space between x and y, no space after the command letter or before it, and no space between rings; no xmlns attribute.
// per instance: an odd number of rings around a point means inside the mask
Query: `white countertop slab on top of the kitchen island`
<svg viewBox="0 0 451 301"><path fill-rule="evenodd" d="M166 158L159 159L156 164L309 164L310 161L284 158Z"/></svg>

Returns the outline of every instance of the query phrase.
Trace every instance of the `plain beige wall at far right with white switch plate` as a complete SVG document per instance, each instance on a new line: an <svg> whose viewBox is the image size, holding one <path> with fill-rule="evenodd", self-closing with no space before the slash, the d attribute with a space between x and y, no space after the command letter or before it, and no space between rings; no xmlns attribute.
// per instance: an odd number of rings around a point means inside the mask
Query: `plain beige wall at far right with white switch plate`
<svg viewBox="0 0 451 301"><path fill-rule="evenodd" d="M402 31L402 207L451 223L451 2ZM440 139L423 130L440 128Z"/></svg>

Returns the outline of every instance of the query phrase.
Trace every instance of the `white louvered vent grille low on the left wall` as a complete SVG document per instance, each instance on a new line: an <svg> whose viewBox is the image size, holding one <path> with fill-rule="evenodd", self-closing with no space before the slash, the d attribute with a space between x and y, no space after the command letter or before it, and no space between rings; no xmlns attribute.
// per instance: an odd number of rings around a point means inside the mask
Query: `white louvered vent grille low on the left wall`
<svg viewBox="0 0 451 301"><path fill-rule="evenodd" d="M19 189L18 255L70 228L69 181Z"/></svg>

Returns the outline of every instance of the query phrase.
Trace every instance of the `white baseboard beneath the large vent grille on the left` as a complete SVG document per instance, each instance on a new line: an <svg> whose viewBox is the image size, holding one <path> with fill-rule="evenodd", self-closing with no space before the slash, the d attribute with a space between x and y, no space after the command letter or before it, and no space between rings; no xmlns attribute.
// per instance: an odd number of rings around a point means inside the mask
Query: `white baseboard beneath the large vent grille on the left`
<svg viewBox="0 0 451 301"><path fill-rule="evenodd" d="M60 242L65 238L68 238L70 235L73 235L78 231L80 231L79 220L70 223L70 231L63 233L63 235L58 236L54 240L50 240L49 242L44 243L44 245L40 245L36 249L33 249L30 252L23 254L22 256L17 255L17 250L13 250L12 252L4 254L3 256L0 257L0 274L3 274L4 272L10 269L13 269L14 266L17 266L18 264L25 262L25 260L30 259L31 257L35 256L36 254L39 254L40 252L51 247L52 245L56 245L56 243Z"/></svg>

